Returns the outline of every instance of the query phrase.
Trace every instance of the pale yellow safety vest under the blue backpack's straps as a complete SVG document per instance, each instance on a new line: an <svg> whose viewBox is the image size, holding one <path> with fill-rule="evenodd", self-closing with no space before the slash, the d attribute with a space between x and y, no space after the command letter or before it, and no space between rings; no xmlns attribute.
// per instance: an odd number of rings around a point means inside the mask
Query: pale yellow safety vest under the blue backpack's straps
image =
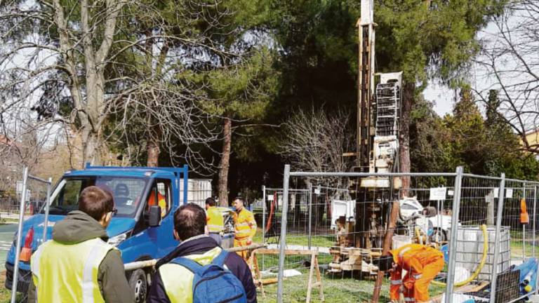
<svg viewBox="0 0 539 303"><path fill-rule="evenodd" d="M220 253L221 248L216 247L201 255L187 255L185 257L204 266L210 264ZM159 267L159 276L161 276L166 295L171 303L193 302L194 274L192 271L180 264L167 263Z"/></svg>

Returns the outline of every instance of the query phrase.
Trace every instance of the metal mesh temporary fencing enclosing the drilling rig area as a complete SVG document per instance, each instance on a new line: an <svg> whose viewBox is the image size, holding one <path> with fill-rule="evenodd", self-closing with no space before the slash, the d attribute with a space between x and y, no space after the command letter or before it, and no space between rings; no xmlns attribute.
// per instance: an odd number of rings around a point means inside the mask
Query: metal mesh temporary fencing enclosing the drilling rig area
<svg viewBox="0 0 539 303"><path fill-rule="evenodd" d="M460 168L455 173L407 174L287 169L283 189L264 190L261 217L274 229L265 234L265 243L279 250L318 250L326 279L362 279L361 289L354 292L358 302L377 300L375 283L363 281L375 277L372 260L382 255L393 201L399 201L400 210L392 245L422 243L444 255L427 291L434 302L461 302L463 297L516 302L537 290L537 261L531 258L536 257L537 182L465 174ZM271 195L278 200L274 210L267 198ZM272 216L279 219L268 225ZM284 254L275 261L271 269L278 269L277 299L283 302L284 285L290 283L285 276L290 269L305 274L310 264L305 257ZM270 264L262 263L269 269ZM413 274L412 269L404 271ZM402 278L406 281L405 274ZM380 302L390 301L390 285L386 276L379 286ZM410 290L404 295L418 294Z"/></svg>

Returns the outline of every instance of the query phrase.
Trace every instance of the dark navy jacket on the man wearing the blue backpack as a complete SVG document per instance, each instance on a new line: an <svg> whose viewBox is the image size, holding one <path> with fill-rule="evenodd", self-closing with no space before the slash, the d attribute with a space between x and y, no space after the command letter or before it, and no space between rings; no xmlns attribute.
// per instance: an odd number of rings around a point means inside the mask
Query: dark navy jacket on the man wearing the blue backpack
<svg viewBox="0 0 539 303"><path fill-rule="evenodd" d="M176 257L185 257L187 255L196 255L206 253L208 250L216 248L217 242L208 236L201 236L197 238L191 238L189 241L184 241L178 245L172 253L169 253L164 258L157 262L155 268L163 264L171 262ZM247 263L236 253L229 253L225 259L225 266L229 271L232 271L234 276L237 276L241 284L244 285L247 295L248 303L256 303L256 287L253 283L253 276L251 276L251 269L249 269ZM159 270L152 277L152 286L149 288L149 294L147 297L148 303L170 303L166 291L161 280Z"/></svg>

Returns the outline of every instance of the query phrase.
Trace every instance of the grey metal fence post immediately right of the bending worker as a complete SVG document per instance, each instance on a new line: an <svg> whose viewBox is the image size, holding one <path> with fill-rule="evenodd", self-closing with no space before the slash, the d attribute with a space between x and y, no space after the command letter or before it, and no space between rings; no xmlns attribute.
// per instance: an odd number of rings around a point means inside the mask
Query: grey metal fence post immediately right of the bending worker
<svg viewBox="0 0 539 303"><path fill-rule="evenodd" d="M458 216L460 213L460 194L463 183L463 167L458 166L455 176L455 194L453 196L453 215L451 215L451 238L449 239L449 264L446 280L446 302L453 302L453 284L455 276L455 262L457 257Z"/></svg>

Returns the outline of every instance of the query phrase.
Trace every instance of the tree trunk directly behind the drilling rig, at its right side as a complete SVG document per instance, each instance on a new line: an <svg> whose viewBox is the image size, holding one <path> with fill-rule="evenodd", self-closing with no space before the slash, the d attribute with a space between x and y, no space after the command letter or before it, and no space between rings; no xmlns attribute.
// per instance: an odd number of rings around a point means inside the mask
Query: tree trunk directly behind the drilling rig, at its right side
<svg viewBox="0 0 539 303"><path fill-rule="evenodd" d="M404 83L401 102L401 131L399 133L399 166L401 173L410 173L410 116L412 111L415 83ZM401 197L408 195L410 177L401 177Z"/></svg>

